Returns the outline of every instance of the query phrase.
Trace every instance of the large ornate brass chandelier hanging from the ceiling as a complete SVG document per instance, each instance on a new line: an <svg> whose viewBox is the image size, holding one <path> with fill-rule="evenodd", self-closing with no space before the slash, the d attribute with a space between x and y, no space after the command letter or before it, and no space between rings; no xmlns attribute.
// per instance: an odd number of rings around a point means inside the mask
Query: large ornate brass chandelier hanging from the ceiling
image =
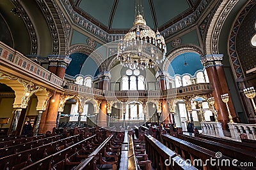
<svg viewBox="0 0 256 170"><path fill-rule="evenodd" d="M165 59L166 45L160 32L154 32L143 18L141 0L135 1L133 27L118 42L117 59L130 69L153 68Z"/></svg>

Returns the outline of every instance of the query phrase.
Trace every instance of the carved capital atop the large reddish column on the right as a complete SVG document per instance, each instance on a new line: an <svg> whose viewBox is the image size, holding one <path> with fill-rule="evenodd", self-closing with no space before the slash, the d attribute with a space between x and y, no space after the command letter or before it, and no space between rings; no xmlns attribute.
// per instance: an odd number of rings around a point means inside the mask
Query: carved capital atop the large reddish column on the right
<svg viewBox="0 0 256 170"><path fill-rule="evenodd" d="M207 54L205 56L200 57L200 60L205 68L222 66L223 54L221 53Z"/></svg>

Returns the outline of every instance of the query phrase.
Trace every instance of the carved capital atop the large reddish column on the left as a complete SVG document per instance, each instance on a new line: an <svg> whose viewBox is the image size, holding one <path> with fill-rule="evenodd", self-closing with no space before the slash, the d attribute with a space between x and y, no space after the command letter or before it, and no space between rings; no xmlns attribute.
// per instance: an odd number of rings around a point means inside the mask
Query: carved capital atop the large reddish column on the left
<svg viewBox="0 0 256 170"><path fill-rule="evenodd" d="M71 62L71 58L67 55L47 55L49 60L49 67L65 67Z"/></svg>

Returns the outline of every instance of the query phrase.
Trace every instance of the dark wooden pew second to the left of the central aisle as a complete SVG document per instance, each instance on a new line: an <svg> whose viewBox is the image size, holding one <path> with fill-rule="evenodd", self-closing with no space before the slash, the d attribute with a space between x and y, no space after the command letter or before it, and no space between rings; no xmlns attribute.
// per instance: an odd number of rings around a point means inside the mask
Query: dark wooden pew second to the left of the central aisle
<svg viewBox="0 0 256 170"><path fill-rule="evenodd" d="M81 163L82 158L77 159L76 162L72 162L68 160L68 157L71 157L74 154L77 154L77 150L83 149L84 143L87 141L92 140L95 138L95 135L83 139L82 141L79 141L78 143L68 146L67 148L53 153L44 159L38 160L34 162L33 164L30 164L29 166L23 167L22 170L25 169L42 169L42 170L47 170L47 169L67 169L66 167L74 167L78 164Z"/></svg>

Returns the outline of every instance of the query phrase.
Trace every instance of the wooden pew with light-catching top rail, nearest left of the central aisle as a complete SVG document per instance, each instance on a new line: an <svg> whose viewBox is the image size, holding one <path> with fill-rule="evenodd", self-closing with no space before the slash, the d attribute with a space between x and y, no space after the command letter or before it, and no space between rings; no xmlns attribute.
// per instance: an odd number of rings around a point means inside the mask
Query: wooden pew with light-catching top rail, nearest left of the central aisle
<svg viewBox="0 0 256 170"><path fill-rule="evenodd" d="M79 164L77 167L75 167L74 170L88 169L88 168L92 167L92 164L94 164L97 156L99 156L99 160L97 160L97 164L111 164L112 168L115 170L117 167L117 162L106 162L106 161L102 160L102 151L106 147L107 143L109 143L109 141L111 141L111 138L113 138L113 135L109 136L95 151L93 151L88 156L88 159L81 162L81 164Z"/></svg>

